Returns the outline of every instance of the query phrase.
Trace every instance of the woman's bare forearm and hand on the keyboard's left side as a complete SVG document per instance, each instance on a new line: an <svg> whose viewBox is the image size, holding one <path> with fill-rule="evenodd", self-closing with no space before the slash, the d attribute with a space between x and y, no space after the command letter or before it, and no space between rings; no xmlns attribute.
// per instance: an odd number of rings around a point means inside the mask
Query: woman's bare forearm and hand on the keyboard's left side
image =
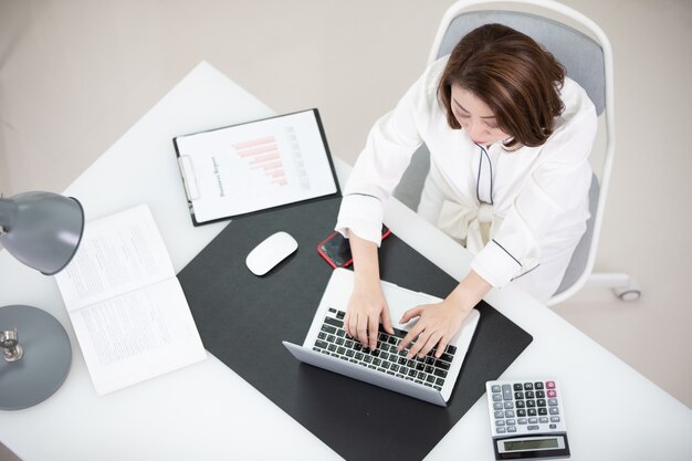
<svg viewBox="0 0 692 461"><path fill-rule="evenodd" d="M344 329L364 347L375 350L379 322L389 334L394 334L389 306L379 282L377 245L349 232L350 252L354 258L354 291L348 301Z"/></svg>

